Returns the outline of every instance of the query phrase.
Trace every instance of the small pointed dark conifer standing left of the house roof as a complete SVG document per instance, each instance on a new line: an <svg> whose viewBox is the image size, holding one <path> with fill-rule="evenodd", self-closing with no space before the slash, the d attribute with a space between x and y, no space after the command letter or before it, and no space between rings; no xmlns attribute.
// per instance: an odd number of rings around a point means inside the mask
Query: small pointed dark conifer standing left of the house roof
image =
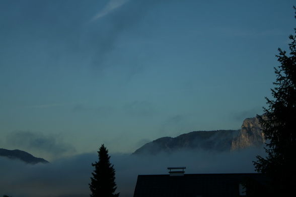
<svg viewBox="0 0 296 197"><path fill-rule="evenodd" d="M89 184L92 191L91 197L118 197L119 193L114 193L116 190L115 170L111 165L108 155L108 150L104 144L100 147L99 161L92 163L95 167L92 173L91 183Z"/></svg>

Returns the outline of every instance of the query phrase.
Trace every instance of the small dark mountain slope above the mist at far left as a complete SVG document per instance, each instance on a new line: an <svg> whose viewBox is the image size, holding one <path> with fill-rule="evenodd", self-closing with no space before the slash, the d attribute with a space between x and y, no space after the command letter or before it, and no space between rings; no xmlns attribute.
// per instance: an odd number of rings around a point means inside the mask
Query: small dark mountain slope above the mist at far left
<svg viewBox="0 0 296 197"><path fill-rule="evenodd" d="M10 159L19 159L29 164L36 164L36 163L49 163L45 159L37 158L22 150L7 150L4 148L0 148L0 156L8 157Z"/></svg>

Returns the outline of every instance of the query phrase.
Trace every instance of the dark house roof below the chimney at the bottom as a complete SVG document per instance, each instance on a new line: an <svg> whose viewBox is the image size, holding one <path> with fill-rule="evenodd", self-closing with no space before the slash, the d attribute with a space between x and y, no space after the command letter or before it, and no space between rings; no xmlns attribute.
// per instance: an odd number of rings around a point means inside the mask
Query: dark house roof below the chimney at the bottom
<svg viewBox="0 0 296 197"><path fill-rule="evenodd" d="M265 177L260 173L138 175L134 197L239 196L239 184L246 180L262 183Z"/></svg>

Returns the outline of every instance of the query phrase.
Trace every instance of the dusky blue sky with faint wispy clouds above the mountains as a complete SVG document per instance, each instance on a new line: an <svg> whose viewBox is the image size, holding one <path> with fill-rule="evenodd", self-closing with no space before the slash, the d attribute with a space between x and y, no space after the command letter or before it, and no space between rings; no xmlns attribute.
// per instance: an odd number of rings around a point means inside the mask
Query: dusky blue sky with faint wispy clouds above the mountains
<svg viewBox="0 0 296 197"><path fill-rule="evenodd" d="M0 147L131 153L262 114L294 1L0 1Z"/></svg>

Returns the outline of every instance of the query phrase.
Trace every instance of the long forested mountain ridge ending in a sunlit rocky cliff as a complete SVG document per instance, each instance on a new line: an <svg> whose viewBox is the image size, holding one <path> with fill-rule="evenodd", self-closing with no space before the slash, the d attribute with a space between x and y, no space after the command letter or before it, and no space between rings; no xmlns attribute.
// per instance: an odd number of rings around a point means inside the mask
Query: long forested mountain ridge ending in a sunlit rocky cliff
<svg viewBox="0 0 296 197"><path fill-rule="evenodd" d="M264 136L257 118L244 120L240 130L193 131L175 138L163 137L146 143L133 154L157 154L178 150L234 151L262 146Z"/></svg>

